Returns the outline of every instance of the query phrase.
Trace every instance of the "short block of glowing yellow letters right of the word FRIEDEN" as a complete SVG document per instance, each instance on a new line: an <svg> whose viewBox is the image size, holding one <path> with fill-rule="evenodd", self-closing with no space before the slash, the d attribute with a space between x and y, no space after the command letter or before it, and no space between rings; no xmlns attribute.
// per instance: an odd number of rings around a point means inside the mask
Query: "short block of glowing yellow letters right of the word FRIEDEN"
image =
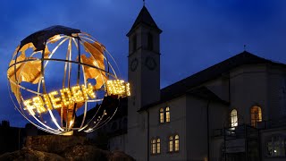
<svg viewBox="0 0 286 161"><path fill-rule="evenodd" d="M130 96L130 84L124 80L107 80L107 94L118 95L119 97Z"/></svg>

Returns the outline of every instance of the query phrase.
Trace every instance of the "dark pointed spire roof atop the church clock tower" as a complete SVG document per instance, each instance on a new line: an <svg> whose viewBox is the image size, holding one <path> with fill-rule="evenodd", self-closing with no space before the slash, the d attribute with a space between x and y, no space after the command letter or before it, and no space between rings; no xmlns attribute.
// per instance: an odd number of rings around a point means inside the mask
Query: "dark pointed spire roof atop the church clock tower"
<svg viewBox="0 0 286 161"><path fill-rule="evenodd" d="M159 30L160 32L162 32L162 30L160 30L158 28L158 26L156 25L156 22L153 20L151 14L148 12L146 6L145 6L145 0L143 1L144 5L138 15L138 17L136 18L136 21L133 23L130 31L127 33L127 36L130 35L131 31L134 30L139 24L145 24L150 28Z"/></svg>

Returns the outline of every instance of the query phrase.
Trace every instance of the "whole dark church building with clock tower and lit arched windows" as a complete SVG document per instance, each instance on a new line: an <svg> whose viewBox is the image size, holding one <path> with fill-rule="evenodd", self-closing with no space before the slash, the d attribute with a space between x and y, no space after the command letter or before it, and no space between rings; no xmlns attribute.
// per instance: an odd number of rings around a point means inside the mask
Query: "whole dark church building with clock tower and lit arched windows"
<svg viewBox="0 0 286 161"><path fill-rule="evenodd" d="M127 133L137 160L286 160L286 65L243 51L160 89L160 34L143 6L129 38Z"/></svg>

